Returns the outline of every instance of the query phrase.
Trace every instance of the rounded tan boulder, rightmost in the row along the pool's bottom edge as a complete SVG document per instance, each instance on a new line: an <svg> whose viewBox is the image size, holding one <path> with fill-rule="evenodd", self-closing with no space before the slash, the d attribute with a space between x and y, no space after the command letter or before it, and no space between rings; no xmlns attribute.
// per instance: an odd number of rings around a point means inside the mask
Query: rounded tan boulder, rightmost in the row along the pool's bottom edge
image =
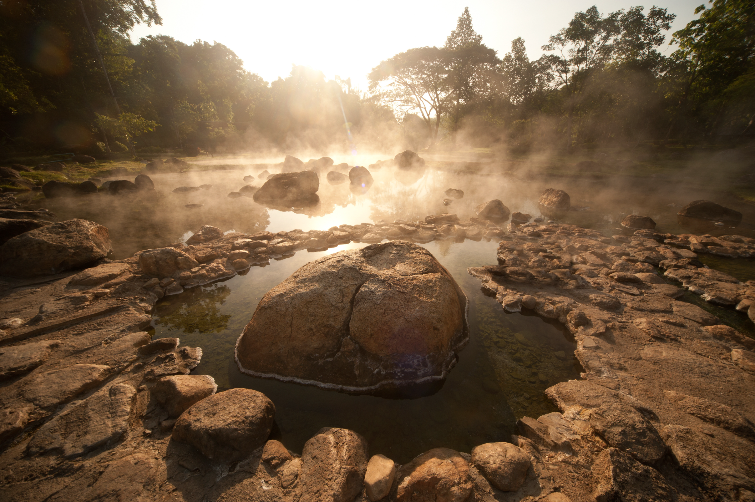
<svg viewBox="0 0 755 502"><path fill-rule="evenodd" d="M518 446L488 442L472 449L472 463L495 488L516 491L524 484L531 461Z"/></svg>

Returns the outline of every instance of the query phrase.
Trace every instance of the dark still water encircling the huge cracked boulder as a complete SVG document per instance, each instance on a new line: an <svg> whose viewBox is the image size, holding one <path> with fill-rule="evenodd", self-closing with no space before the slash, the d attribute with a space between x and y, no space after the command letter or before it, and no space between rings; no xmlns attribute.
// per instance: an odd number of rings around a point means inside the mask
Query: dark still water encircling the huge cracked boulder
<svg viewBox="0 0 755 502"><path fill-rule="evenodd" d="M194 373L212 375L219 390L247 387L270 397L282 442L294 451L301 451L321 427L347 427L365 436L371 454L403 463L439 446L470 451L483 442L509 440L516 418L557 411L543 391L579 377L575 343L557 323L504 313L494 298L482 294L467 267L490 263L496 242L424 246L470 300L470 343L442 384L407 390L404 397L412 399L391 399L241 374L233 346L263 294L307 261L361 246L299 252L264 268L252 267L245 276L168 297L157 306L155 336L180 337L185 345L201 346L204 356Z"/></svg>

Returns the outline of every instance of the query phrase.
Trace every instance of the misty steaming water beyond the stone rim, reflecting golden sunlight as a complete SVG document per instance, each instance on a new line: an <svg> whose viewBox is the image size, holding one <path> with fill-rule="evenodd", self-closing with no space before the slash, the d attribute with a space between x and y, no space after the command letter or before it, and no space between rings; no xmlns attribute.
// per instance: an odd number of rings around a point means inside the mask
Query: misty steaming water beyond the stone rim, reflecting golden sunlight
<svg viewBox="0 0 755 502"><path fill-rule="evenodd" d="M386 158L386 157L384 157ZM248 184L245 175L254 176L251 184L260 186L264 180L257 175L265 167L253 167L247 159L231 165L232 171L199 171L192 173L156 174L152 178L155 192L129 196L94 195L79 199L43 199L35 205L57 213L61 220L82 217L107 226L115 257L131 256L135 251L156 248L185 240L200 226L210 224L223 231L272 232L292 229L328 229L343 223L374 223L379 220L419 220L428 214L451 212L462 219L474 216L474 208L490 199L501 199L510 210L538 216L538 196L548 187L565 189L572 196L572 205L587 206L592 211L575 212L565 222L578 223L612 235L618 233L618 222L624 214L644 214L658 223L661 233L738 233L755 237L755 208L716 192L710 183L692 184L680 178L615 178L612 180L575 180L570 178L517 177L516 174L492 172L493 168L467 165L439 158L429 162L424 171L399 171L384 168L373 171L374 184L364 190L352 191L350 184L331 185L320 177L319 206L299 211L278 211L257 205L247 197L230 199L227 194ZM261 159L266 160L266 159ZM336 162L353 159L336 159ZM357 162L374 162L376 158L358 157ZM238 159L206 159L200 162L241 162ZM210 167L210 166L205 166ZM267 167L278 172L278 167ZM347 172L347 171L344 171ZM135 175L135 174L134 174ZM208 190L173 193L177 186L211 184ZM464 199L445 206L445 189L464 190ZM363 193L362 193L363 192ZM719 228L709 222L677 221L681 205L695 199L710 199L744 214L744 223L737 228ZM201 204L200 208L186 208ZM486 260L489 263L492 257Z"/></svg>

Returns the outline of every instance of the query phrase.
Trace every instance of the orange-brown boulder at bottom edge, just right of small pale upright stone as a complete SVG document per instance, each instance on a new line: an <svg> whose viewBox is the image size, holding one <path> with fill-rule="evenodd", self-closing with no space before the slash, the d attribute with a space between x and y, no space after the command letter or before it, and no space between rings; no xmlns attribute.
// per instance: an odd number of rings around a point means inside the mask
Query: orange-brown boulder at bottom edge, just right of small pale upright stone
<svg viewBox="0 0 755 502"><path fill-rule="evenodd" d="M472 492L467 460L458 451L434 448L426 451L399 471L396 500L443 500L464 502Z"/></svg>

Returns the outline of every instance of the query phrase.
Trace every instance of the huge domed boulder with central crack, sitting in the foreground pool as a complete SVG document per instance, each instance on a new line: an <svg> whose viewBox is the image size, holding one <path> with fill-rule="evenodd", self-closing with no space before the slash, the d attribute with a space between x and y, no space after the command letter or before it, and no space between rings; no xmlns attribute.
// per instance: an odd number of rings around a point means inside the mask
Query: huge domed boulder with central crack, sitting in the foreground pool
<svg viewBox="0 0 755 502"><path fill-rule="evenodd" d="M260 301L236 342L246 374L366 392L440 380L467 343L467 297L403 241L302 266Z"/></svg>

